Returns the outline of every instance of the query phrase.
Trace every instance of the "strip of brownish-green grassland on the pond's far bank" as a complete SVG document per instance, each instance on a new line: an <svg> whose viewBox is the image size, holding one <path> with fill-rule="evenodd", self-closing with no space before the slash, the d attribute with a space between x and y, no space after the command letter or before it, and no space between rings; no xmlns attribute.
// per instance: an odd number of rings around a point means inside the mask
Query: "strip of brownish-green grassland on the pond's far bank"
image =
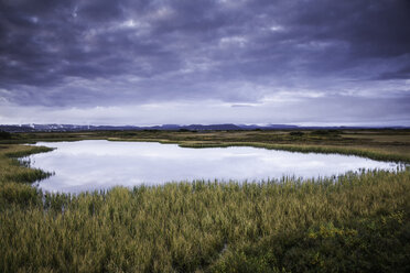
<svg viewBox="0 0 410 273"><path fill-rule="evenodd" d="M95 139L176 143L186 148L247 145L294 152L354 154L410 163L410 130L39 132L14 133L10 140L0 143Z"/></svg>

